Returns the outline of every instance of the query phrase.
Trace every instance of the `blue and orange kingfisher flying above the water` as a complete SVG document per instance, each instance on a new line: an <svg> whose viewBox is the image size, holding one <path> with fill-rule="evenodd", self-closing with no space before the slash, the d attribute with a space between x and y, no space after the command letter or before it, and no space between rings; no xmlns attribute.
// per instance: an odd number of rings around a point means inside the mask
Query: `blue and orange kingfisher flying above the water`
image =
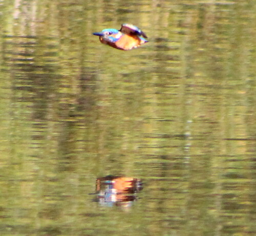
<svg viewBox="0 0 256 236"><path fill-rule="evenodd" d="M148 42L146 34L131 24L122 24L120 30L104 29L101 32L93 33L93 35L99 36L102 44L120 50L131 50Z"/></svg>

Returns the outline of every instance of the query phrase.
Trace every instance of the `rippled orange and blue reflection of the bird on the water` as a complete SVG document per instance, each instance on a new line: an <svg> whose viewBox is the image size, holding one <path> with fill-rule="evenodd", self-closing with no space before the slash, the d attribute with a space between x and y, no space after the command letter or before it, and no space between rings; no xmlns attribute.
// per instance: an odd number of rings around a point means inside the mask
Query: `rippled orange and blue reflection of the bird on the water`
<svg viewBox="0 0 256 236"><path fill-rule="evenodd" d="M112 175L101 177L96 180L96 201L106 206L130 207L142 188L141 179Z"/></svg>

